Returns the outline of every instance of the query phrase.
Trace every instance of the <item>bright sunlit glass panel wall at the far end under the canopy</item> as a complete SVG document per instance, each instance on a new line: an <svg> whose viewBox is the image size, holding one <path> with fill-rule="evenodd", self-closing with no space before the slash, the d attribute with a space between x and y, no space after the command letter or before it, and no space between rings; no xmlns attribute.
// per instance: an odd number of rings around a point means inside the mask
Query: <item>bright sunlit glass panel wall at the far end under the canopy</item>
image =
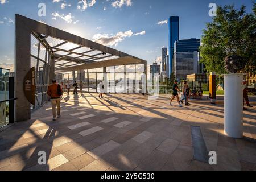
<svg viewBox="0 0 256 182"><path fill-rule="evenodd" d="M102 82L103 68L88 69L75 73L73 80L72 72L63 73L64 81L69 80L83 83L83 92L100 92L98 85ZM108 93L142 93L142 76L144 65L119 65L106 67L106 84Z"/></svg>

